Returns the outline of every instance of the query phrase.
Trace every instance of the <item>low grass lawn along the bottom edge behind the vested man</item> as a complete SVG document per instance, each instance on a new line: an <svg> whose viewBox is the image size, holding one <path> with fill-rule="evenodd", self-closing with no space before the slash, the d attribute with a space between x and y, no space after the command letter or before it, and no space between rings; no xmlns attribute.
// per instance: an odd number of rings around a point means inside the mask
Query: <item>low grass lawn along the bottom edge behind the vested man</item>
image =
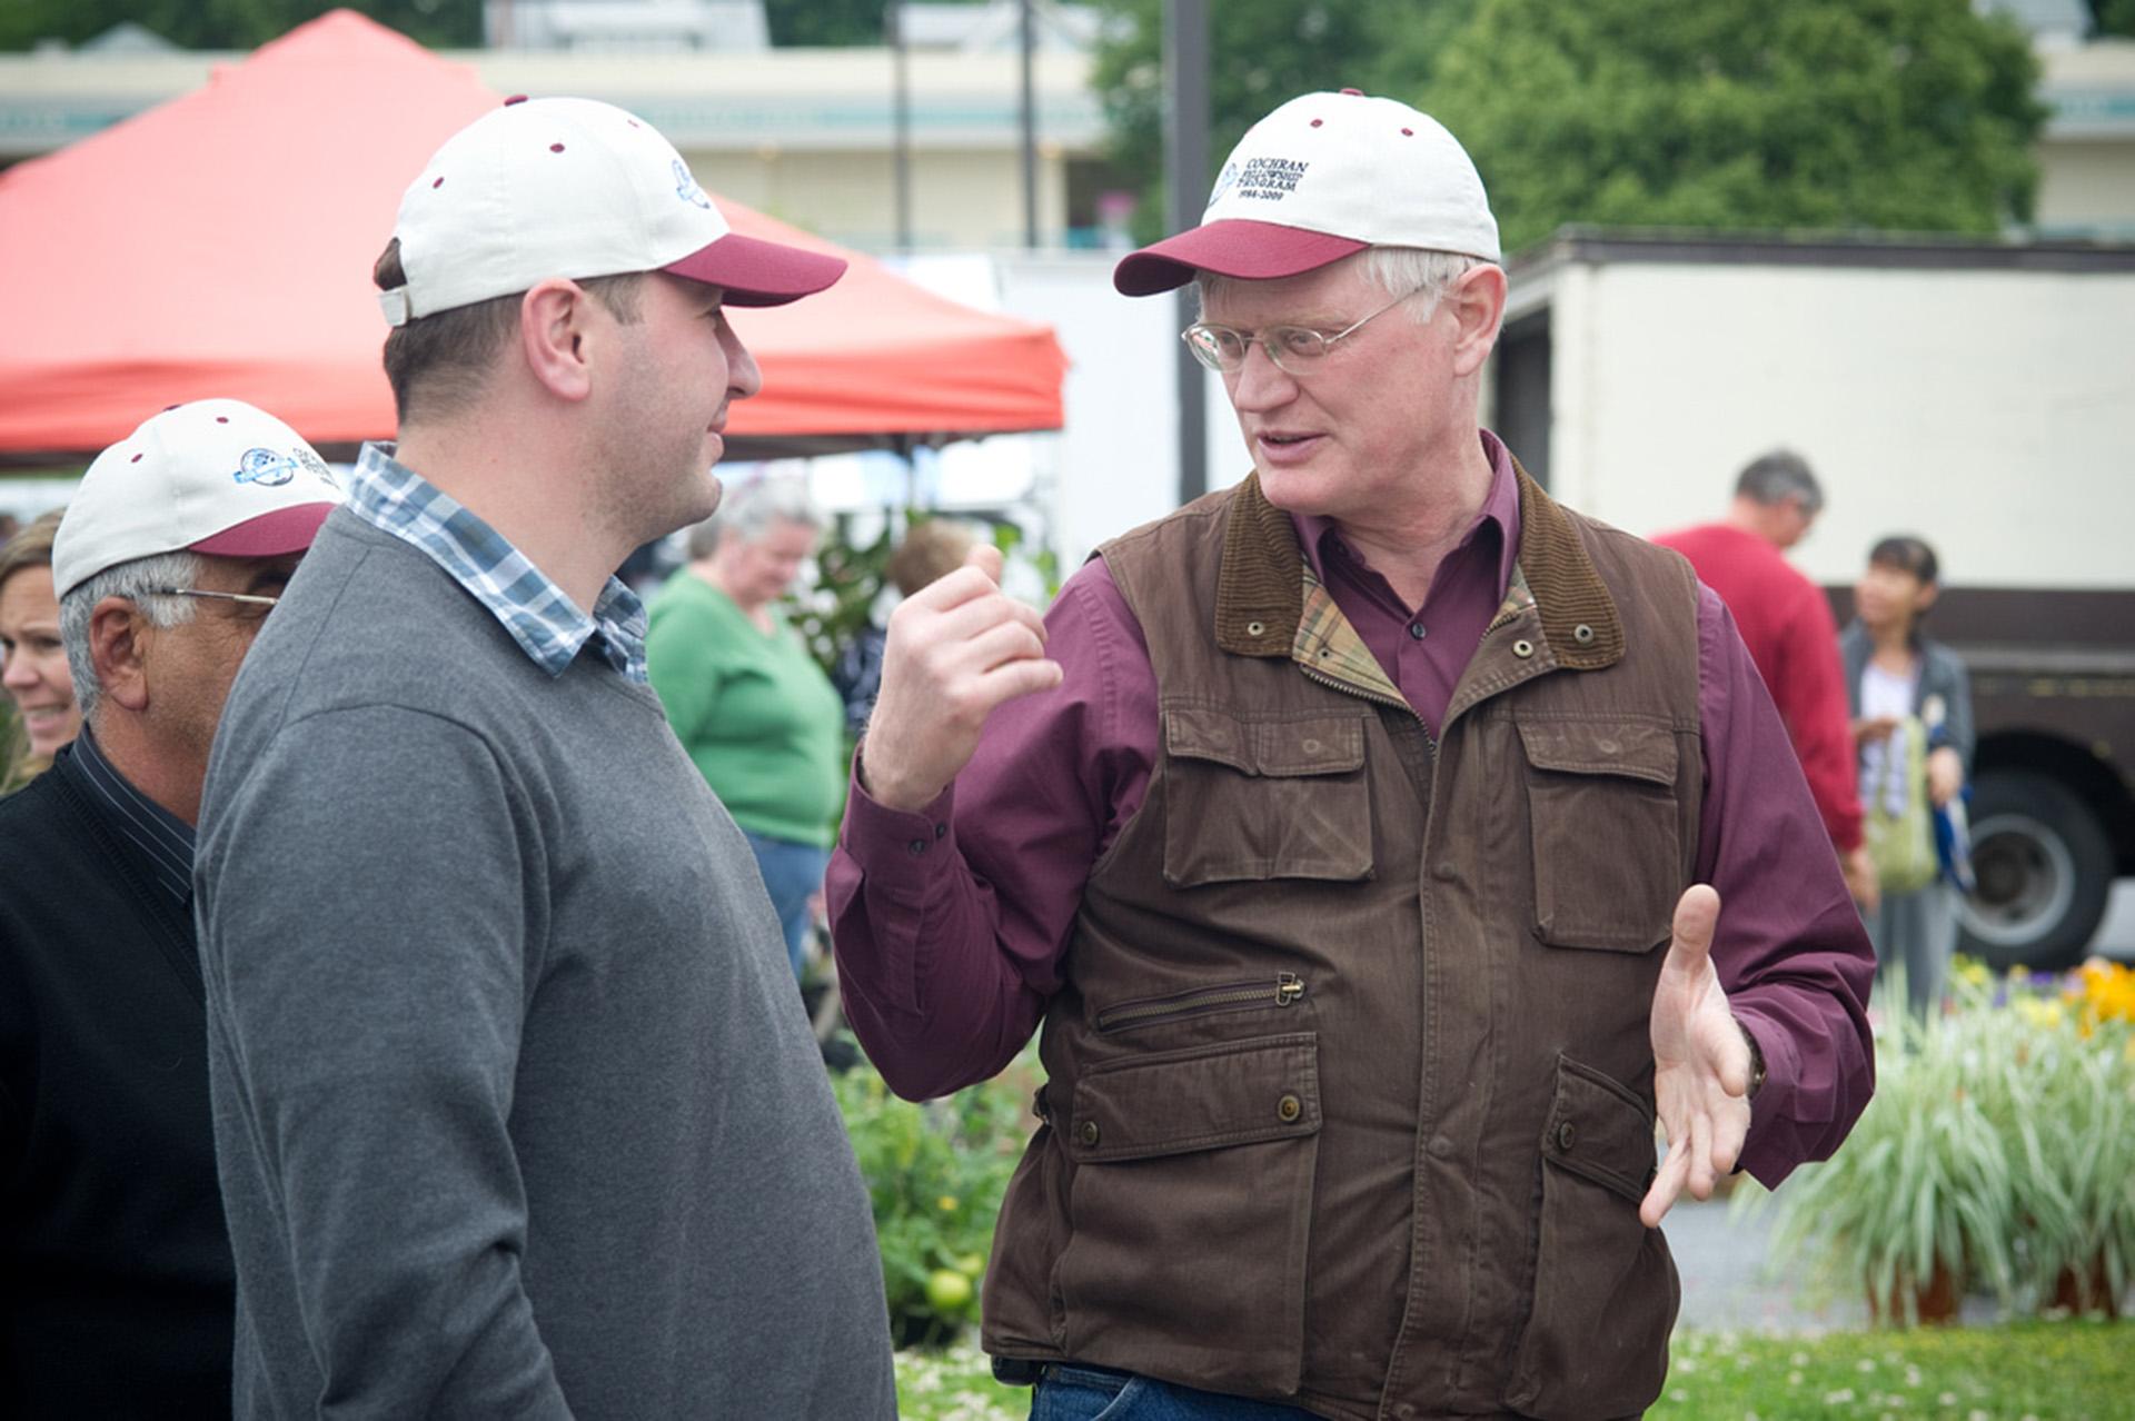
<svg viewBox="0 0 2135 1421"><path fill-rule="evenodd" d="M907 1421L1023 1421L971 1346L897 1355ZM1768 1338L1676 1334L1655 1421L2118 1421L2135 1415L2135 1323L2009 1323Z"/></svg>

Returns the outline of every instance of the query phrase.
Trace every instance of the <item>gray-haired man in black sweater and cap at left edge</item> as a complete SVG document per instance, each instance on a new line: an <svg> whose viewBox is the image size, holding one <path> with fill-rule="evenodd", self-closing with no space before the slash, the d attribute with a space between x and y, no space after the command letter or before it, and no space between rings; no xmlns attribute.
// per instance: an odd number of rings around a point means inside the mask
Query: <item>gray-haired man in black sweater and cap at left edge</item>
<svg viewBox="0 0 2135 1421"><path fill-rule="evenodd" d="M231 1415L192 841L237 666L337 504L297 431L203 399L60 523L83 728L0 800L0 1415Z"/></svg>

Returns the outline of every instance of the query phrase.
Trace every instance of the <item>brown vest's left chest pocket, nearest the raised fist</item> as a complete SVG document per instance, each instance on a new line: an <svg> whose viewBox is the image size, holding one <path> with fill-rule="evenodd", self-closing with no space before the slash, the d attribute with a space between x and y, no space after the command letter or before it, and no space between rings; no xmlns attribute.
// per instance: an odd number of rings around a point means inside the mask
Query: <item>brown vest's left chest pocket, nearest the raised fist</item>
<svg viewBox="0 0 2135 1421"><path fill-rule="evenodd" d="M1364 721L1164 713L1164 879L1371 877Z"/></svg>

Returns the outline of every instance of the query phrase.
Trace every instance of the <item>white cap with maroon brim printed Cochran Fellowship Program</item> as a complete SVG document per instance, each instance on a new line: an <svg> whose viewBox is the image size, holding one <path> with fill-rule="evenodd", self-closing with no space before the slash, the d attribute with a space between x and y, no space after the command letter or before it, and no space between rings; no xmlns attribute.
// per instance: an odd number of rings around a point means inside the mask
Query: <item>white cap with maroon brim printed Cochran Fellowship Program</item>
<svg viewBox="0 0 2135 1421"><path fill-rule="evenodd" d="M1112 286L1153 297L1196 271L1287 277L1364 248L1501 260L1482 177L1435 117L1358 90L1304 94L1245 130L1200 226L1123 256Z"/></svg>

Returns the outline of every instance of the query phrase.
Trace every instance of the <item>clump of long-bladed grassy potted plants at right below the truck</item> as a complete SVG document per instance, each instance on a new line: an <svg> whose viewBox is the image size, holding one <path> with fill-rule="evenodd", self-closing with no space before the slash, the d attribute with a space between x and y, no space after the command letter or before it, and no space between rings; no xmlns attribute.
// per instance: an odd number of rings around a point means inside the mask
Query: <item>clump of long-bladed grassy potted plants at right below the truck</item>
<svg viewBox="0 0 2135 1421"><path fill-rule="evenodd" d="M1956 990L1951 1016L1879 1031L1875 1099L1836 1156L1736 1208L1770 1199L1772 1257L1896 1297L1907 1321L1936 1274L2005 1312L2054 1306L2065 1274L2077 1306L2105 1302L2092 1280L2118 1297L2135 1270L2135 1028L2065 1005L2082 988L1977 964Z"/></svg>

